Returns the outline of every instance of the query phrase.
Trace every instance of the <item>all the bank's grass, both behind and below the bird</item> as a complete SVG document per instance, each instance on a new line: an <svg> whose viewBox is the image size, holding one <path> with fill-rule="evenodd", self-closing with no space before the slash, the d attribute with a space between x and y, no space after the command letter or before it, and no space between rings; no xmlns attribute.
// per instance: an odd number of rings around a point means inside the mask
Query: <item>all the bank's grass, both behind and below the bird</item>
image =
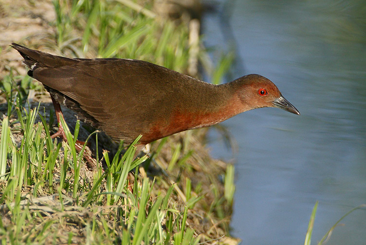
<svg viewBox="0 0 366 245"><path fill-rule="evenodd" d="M185 71L186 25L156 17L151 5L53 1L55 32L18 42L64 56L138 58ZM121 142L114 155L97 153L96 168L88 169L86 153L74 145L85 129L76 121L73 137L69 120L62 121L67 142L51 139L54 113L38 102L38 82L13 67L0 89L2 244L195 245L228 234L234 169L227 171L224 188L218 175L226 165L210 159L198 142L200 131L155 142L149 157L137 159L138 138L128 148Z"/></svg>

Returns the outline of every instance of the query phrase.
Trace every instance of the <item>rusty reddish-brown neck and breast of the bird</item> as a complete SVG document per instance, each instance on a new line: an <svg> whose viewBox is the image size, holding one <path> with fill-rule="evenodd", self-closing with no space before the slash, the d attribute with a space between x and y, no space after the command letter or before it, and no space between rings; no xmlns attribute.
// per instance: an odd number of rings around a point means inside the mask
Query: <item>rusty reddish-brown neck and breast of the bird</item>
<svg viewBox="0 0 366 245"><path fill-rule="evenodd" d="M161 118L144 134L146 139L155 140L176 132L208 127L251 109L239 99L232 83L202 85L201 93L181 94L170 117Z"/></svg>

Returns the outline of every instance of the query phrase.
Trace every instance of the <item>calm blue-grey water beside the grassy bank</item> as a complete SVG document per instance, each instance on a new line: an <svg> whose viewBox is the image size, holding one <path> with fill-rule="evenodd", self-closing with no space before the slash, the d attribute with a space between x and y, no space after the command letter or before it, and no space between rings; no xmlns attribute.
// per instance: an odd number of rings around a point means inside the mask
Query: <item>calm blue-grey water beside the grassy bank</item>
<svg viewBox="0 0 366 245"><path fill-rule="evenodd" d="M301 113L265 108L225 121L234 155L210 131L213 155L236 162L232 235L303 244L318 200L315 244L366 204L365 1L222 0L202 30L205 45L236 47L230 79L264 75ZM366 209L341 223L328 245L366 245Z"/></svg>

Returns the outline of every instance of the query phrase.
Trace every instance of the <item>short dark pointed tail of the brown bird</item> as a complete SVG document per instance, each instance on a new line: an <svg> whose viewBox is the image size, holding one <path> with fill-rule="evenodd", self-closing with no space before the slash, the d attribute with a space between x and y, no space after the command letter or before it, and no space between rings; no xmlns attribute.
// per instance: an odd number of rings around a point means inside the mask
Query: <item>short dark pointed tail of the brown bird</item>
<svg viewBox="0 0 366 245"><path fill-rule="evenodd" d="M54 56L41 51L29 49L14 42L10 46L19 52L19 54L24 58L23 63L31 71L34 71L37 67L56 68L65 65L73 65L79 62L77 59Z"/></svg>

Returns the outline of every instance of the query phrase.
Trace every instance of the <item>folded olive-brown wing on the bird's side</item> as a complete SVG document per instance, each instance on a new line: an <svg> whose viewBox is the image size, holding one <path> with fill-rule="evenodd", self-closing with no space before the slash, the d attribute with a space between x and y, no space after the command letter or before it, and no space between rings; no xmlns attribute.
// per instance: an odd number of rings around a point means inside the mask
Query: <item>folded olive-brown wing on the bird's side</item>
<svg viewBox="0 0 366 245"><path fill-rule="evenodd" d="M165 74L173 71L151 65L127 59L83 60L39 67L33 77L76 101L112 138L132 141L154 122L164 121L177 98L172 95L179 94L177 82Z"/></svg>

